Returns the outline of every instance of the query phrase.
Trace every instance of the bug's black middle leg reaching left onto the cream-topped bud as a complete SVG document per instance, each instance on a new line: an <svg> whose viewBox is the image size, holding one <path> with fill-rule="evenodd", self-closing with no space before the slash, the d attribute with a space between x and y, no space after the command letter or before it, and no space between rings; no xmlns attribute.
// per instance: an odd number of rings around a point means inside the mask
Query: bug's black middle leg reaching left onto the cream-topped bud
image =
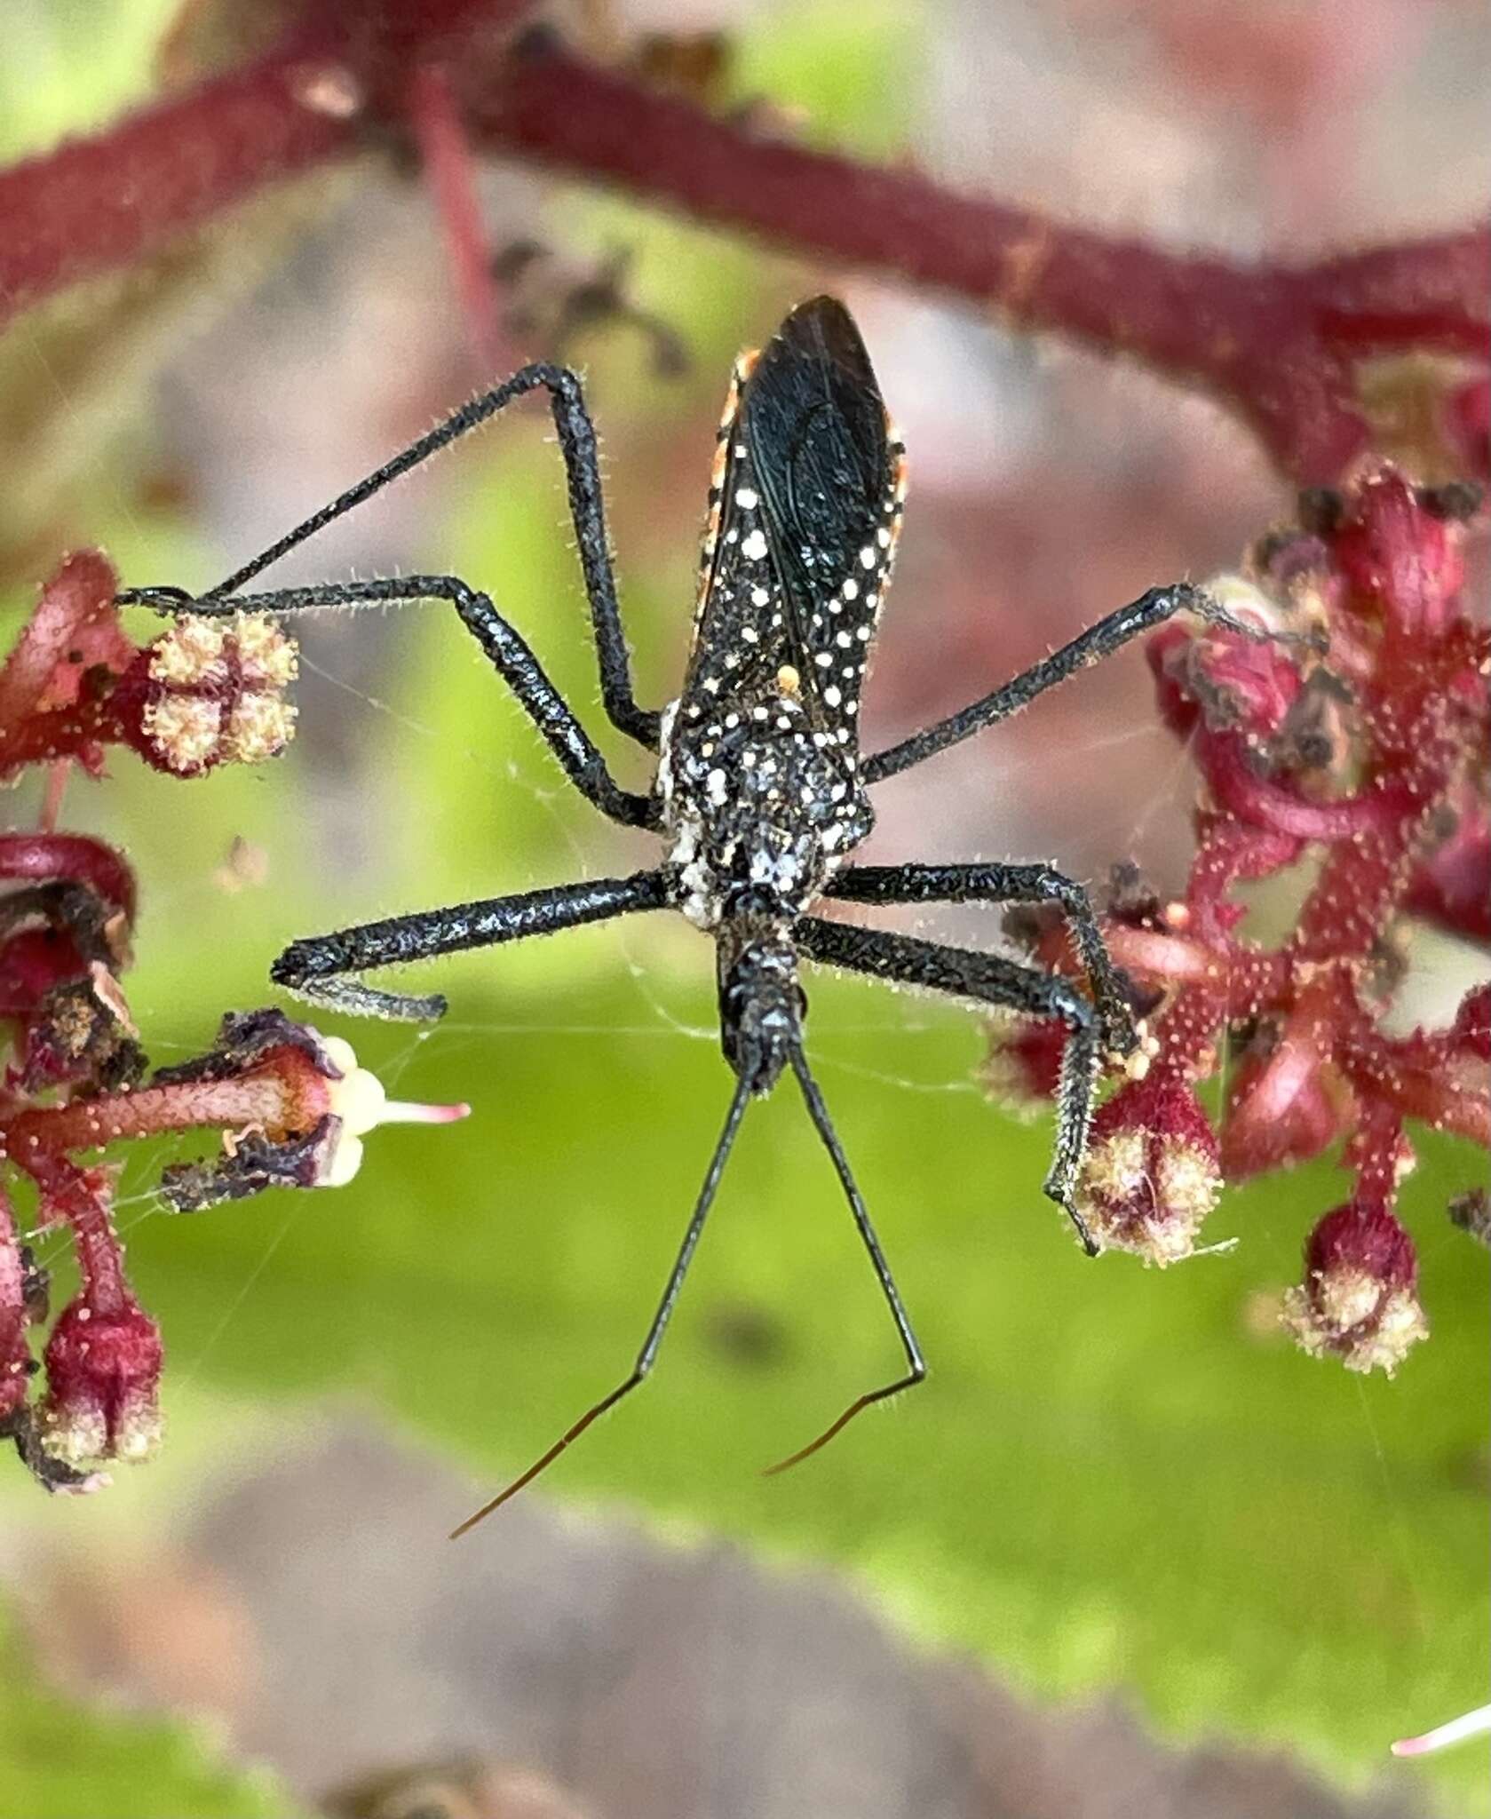
<svg viewBox="0 0 1491 1819"><path fill-rule="evenodd" d="M118 595L118 600L125 606L151 606L158 613L202 618L227 618L233 613L309 613L324 606L449 600L462 624L485 651L491 666L518 697L520 706L544 735L575 788L611 820L633 828L649 828L656 822L653 799L622 789L611 777L600 748L575 719L522 633L498 613L487 595L467 588L455 575L324 582L315 588L280 588L275 593L240 593L231 598L222 595L193 598L175 588L129 588Z"/></svg>

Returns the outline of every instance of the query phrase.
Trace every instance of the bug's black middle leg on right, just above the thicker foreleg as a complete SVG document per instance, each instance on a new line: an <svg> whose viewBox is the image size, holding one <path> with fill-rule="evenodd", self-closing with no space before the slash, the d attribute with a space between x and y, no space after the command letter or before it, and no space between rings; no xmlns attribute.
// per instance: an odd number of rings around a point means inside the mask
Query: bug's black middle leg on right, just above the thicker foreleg
<svg viewBox="0 0 1491 1819"><path fill-rule="evenodd" d="M829 882L826 897L858 904L998 902L1056 904L1067 920L1082 968L1102 1017L1104 1044L1127 1055L1135 1020L1118 970L1102 939L1087 891L1055 866L849 866Z"/></svg>

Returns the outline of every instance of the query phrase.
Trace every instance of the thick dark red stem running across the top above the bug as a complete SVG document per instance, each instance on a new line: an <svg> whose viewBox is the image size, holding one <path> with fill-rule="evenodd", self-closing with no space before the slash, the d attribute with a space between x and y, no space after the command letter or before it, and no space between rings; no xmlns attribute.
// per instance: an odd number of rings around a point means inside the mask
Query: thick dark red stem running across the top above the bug
<svg viewBox="0 0 1491 1819"><path fill-rule="evenodd" d="M18 307L133 266L264 186L356 151L369 127L400 129L411 71L449 55L465 131L484 149L1142 358L1227 400L1306 482L1335 480L1367 438L1344 324L1362 317L1376 346L1396 318L1406 333L1393 344L1411 346L1424 318L1436 338L1449 324L1469 340L1491 313L1484 227L1296 269L1175 255L773 140L553 49L515 51L495 35L467 45L462 33L502 11L382 0L353 27L318 7L265 56L0 173L0 298ZM316 109L313 78L327 65L365 96L355 120Z"/></svg>

